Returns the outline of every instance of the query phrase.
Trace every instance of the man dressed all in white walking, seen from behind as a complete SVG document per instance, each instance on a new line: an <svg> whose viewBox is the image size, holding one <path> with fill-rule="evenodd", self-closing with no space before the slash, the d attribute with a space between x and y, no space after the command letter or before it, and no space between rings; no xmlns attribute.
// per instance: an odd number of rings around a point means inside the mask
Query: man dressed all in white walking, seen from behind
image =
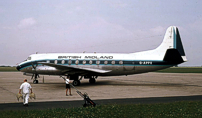
<svg viewBox="0 0 202 118"><path fill-rule="evenodd" d="M19 94L21 94L21 90L22 90L22 95L23 95L23 105L28 106L29 91L31 90L31 93L32 93L32 87L27 82L27 79L24 79L24 83L21 84Z"/></svg>

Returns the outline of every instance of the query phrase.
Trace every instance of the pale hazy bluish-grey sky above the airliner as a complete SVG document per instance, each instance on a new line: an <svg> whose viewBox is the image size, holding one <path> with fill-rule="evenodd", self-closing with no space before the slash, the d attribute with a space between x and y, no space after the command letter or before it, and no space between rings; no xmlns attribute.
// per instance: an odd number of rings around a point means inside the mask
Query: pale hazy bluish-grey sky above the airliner
<svg viewBox="0 0 202 118"><path fill-rule="evenodd" d="M177 26L188 62L202 66L201 0L1 0L0 66L38 53L134 53Z"/></svg>

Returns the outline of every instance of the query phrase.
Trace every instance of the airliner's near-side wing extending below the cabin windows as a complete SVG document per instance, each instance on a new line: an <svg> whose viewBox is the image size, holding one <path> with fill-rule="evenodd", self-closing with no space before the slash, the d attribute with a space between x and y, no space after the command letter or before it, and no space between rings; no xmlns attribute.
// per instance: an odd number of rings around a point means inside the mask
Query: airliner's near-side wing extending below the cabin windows
<svg viewBox="0 0 202 118"><path fill-rule="evenodd" d="M94 69L94 68L86 68L86 67L72 67L72 66L64 66L64 65L58 65L58 64L52 64L52 63L46 63L46 62L38 62L38 64L43 64L46 66L55 67L58 70L62 70L64 73L108 73L111 70L101 70L101 69Z"/></svg>

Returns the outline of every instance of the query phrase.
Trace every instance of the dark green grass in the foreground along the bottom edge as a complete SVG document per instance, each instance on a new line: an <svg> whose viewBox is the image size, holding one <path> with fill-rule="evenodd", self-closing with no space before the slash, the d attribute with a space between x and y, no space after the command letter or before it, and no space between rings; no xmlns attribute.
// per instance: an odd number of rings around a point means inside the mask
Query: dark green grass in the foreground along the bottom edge
<svg viewBox="0 0 202 118"><path fill-rule="evenodd" d="M100 105L95 108L0 111L1 118L195 118L202 117L202 101L159 104Z"/></svg>

